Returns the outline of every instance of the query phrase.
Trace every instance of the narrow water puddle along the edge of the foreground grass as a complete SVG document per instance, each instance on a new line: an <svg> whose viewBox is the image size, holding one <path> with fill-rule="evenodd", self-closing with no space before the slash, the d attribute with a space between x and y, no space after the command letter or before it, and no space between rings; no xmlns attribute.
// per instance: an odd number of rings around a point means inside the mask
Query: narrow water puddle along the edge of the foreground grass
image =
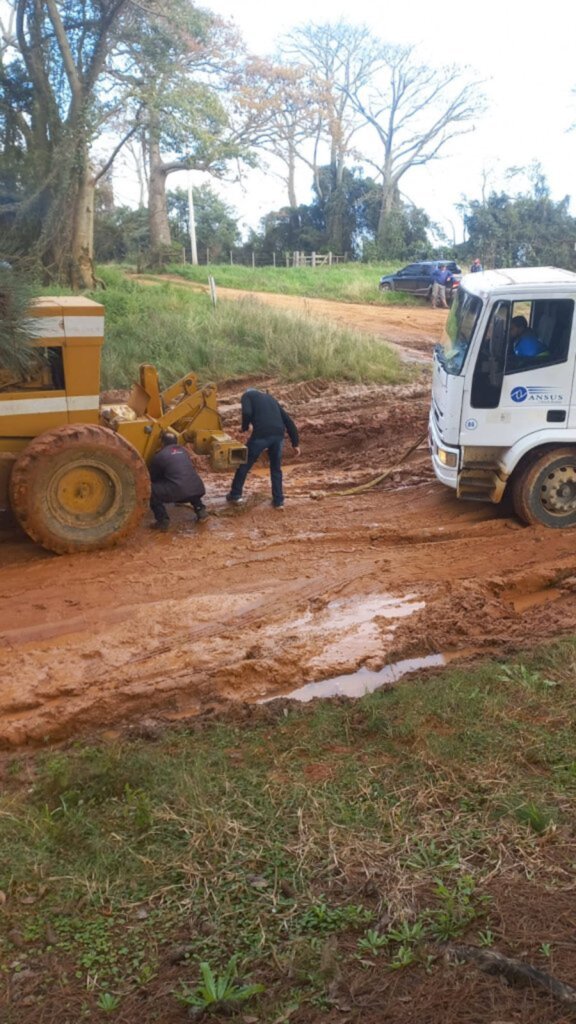
<svg viewBox="0 0 576 1024"><path fill-rule="evenodd" d="M407 657L403 662L384 665L376 672L370 669L359 669L346 676L333 676L332 679L321 679L316 683L306 683L290 693L278 694L288 700L314 700L316 697L363 697L373 693L380 686L397 683L403 676L420 669L435 669L447 665L451 660L445 654L426 654L423 657ZM268 703L277 697L266 697L259 701Z"/></svg>

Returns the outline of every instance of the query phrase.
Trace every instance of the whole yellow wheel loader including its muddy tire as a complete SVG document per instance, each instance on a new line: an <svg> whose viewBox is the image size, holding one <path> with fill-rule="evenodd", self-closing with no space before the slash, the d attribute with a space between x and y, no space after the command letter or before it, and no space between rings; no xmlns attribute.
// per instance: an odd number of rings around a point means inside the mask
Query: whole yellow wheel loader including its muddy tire
<svg viewBox="0 0 576 1024"><path fill-rule="evenodd" d="M42 298L30 315L37 369L18 379L0 367L0 510L11 510L34 541L65 554L132 532L167 429L213 469L246 461L245 445L222 431L215 387L199 387L194 374L161 391L145 365L126 403L100 403L97 302Z"/></svg>

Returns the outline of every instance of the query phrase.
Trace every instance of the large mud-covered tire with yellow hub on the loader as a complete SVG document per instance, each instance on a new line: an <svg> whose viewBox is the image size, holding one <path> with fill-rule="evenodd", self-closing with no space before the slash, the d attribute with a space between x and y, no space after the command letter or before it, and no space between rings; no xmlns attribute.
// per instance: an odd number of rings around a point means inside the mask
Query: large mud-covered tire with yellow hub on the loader
<svg viewBox="0 0 576 1024"><path fill-rule="evenodd" d="M16 460L10 505L23 529L57 554L118 544L137 526L150 477L135 447L79 423L40 434Z"/></svg>

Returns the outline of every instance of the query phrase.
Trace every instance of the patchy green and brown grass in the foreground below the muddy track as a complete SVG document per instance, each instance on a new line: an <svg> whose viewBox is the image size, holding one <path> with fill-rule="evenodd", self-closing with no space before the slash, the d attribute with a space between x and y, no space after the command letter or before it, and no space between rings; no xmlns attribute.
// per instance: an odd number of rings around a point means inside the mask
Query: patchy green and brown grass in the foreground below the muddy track
<svg viewBox="0 0 576 1024"><path fill-rule="evenodd" d="M358 701L8 759L3 1020L183 1022L228 971L252 1024L566 1021L442 948L570 980L575 667L564 641Z"/></svg>

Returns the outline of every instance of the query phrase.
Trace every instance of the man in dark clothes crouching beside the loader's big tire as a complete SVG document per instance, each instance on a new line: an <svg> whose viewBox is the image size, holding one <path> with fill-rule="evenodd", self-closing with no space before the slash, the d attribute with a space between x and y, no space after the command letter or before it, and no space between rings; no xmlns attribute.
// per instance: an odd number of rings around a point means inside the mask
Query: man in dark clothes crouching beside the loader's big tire
<svg viewBox="0 0 576 1024"><path fill-rule="evenodd" d="M162 435L162 447L150 464L152 497L150 507L154 512L153 529L165 532L170 522L166 504L186 502L194 506L196 518L208 517L208 510L202 502L206 487L196 472L187 450L177 443L175 434Z"/></svg>

